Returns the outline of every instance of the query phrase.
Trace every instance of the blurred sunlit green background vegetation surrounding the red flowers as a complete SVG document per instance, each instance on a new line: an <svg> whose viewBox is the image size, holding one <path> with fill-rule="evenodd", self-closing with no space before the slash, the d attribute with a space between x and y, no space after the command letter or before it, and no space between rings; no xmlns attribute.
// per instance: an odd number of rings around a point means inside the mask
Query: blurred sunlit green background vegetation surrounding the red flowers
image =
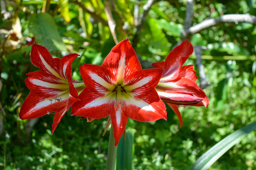
<svg viewBox="0 0 256 170"><path fill-rule="evenodd" d="M128 119L136 129L133 169L185 170L211 146L256 120L255 22L223 22L188 33L187 28L227 14L256 15L255 0L195 0L186 27L186 0L0 0L0 169L95 169L106 167L109 132L106 119L87 123L64 116L52 135L53 115L19 119L29 89L26 73L31 44L47 47L54 57L79 53L73 79L82 63L101 64L115 42L129 38L144 68L165 59L178 42L202 47L209 107L179 107L183 126L167 106L167 121ZM248 14L248 15L249 15ZM235 20L236 18L234 18ZM254 18L255 19L255 18ZM184 24L185 23L185 24ZM185 27L184 27L185 25ZM192 55L185 64L196 64ZM198 60L197 60L198 61ZM194 69L199 72L198 67ZM201 70L202 73L202 70ZM201 80L200 80L201 78ZM202 83L199 77L197 83ZM2 86L1 86L2 85ZM256 136L251 132L210 169L256 169Z"/></svg>

